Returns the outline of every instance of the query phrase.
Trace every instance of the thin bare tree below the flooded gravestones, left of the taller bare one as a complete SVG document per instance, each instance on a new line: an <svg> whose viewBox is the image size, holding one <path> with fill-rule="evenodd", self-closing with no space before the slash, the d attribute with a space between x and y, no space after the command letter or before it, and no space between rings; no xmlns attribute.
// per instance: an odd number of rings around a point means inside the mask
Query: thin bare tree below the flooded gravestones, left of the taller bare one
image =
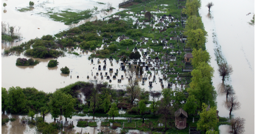
<svg viewBox="0 0 256 134"><path fill-rule="evenodd" d="M91 99L93 101L93 114L95 113L95 107L98 100L98 94L100 91L99 85L103 83L103 80L100 80L98 78L96 79L90 79L89 82L92 84L92 93L91 93Z"/></svg>

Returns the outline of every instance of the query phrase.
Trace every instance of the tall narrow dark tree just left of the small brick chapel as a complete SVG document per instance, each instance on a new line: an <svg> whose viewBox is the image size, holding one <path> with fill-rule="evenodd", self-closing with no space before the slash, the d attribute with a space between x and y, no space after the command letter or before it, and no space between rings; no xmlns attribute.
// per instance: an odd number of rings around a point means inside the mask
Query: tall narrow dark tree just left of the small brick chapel
<svg viewBox="0 0 256 134"><path fill-rule="evenodd" d="M170 88L164 88L162 90L163 98L161 99L161 103L159 104L159 112L162 114L162 118L164 119L166 131L167 120L173 116L173 107L171 106L171 94L172 91Z"/></svg>

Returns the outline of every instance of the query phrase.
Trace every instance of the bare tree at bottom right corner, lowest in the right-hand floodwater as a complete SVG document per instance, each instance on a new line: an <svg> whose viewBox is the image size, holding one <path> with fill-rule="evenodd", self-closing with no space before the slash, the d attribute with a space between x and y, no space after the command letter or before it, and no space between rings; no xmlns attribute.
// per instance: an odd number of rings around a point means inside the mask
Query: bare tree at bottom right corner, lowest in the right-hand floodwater
<svg viewBox="0 0 256 134"><path fill-rule="evenodd" d="M231 126L232 126L232 131L234 132L234 134L243 134L244 133L244 123L245 123L245 119L244 118L240 118L240 117L236 117L231 119Z"/></svg>

